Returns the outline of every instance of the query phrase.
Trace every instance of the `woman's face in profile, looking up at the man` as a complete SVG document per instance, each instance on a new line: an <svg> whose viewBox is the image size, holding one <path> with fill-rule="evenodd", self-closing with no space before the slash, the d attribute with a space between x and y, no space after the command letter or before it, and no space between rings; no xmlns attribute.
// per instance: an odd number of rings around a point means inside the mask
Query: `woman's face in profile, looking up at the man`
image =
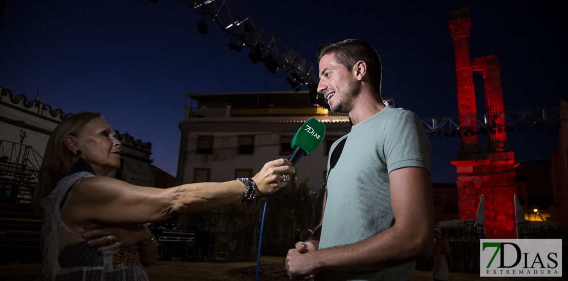
<svg viewBox="0 0 568 281"><path fill-rule="evenodd" d="M105 119L95 118L83 127L77 136L82 157L89 161L95 175L106 176L120 167L120 141Z"/></svg>

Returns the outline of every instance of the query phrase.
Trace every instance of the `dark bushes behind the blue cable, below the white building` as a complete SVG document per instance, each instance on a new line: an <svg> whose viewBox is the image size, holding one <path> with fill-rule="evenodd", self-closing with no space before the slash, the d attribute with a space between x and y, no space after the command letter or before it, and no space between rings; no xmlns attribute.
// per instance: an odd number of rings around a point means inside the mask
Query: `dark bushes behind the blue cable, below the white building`
<svg viewBox="0 0 568 281"><path fill-rule="evenodd" d="M314 229L321 220L325 184L315 191L307 175L295 178L270 195L262 238L262 255L286 255L294 247L294 230L308 225ZM220 258L257 258L258 238L265 198L235 203L194 215L181 216L178 229L214 232L213 255Z"/></svg>

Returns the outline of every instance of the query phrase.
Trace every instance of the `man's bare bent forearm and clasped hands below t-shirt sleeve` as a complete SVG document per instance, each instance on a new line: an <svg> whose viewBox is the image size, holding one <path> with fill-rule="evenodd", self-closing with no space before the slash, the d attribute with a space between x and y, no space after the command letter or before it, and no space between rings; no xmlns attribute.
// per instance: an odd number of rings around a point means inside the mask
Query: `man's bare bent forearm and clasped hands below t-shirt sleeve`
<svg viewBox="0 0 568 281"><path fill-rule="evenodd" d="M319 271L364 271L400 265L432 254L433 195L430 172L404 167L389 174L395 224L355 244L309 251L288 252L290 278L307 278Z"/></svg>

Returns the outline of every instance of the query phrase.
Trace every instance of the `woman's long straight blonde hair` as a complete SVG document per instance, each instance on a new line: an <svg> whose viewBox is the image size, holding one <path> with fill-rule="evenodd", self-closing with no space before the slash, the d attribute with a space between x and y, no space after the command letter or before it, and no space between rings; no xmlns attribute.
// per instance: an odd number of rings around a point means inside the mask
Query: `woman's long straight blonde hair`
<svg viewBox="0 0 568 281"><path fill-rule="evenodd" d="M41 163L39 168L34 198L32 198L34 211L41 219L43 219L44 215L43 208L41 208L41 199L49 196L53 188L57 186L57 183L69 175L71 167L75 162L75 154L65 145L66 137L77 137L83 127L95 118L103 118L103 115L98 112L80 112L71 115L57 125L51 137L49 137L45 147L43 163Z"/></svg>

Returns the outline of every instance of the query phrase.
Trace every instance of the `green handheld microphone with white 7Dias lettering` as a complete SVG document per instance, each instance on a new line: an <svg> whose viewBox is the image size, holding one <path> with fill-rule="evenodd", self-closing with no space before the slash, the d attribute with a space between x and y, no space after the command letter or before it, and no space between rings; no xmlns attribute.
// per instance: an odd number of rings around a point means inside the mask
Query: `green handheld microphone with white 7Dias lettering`
<svg viewBox="0 0 568 281"><path fill-rule="evenodd" d="M296 132L294 139L292 139L292 149L294 151L288 157L288 161L292 162L292 166L296 165L302 156L312 153L321 143L324 135L325 125L323 123L315 118L307 120Z"/></svg>

